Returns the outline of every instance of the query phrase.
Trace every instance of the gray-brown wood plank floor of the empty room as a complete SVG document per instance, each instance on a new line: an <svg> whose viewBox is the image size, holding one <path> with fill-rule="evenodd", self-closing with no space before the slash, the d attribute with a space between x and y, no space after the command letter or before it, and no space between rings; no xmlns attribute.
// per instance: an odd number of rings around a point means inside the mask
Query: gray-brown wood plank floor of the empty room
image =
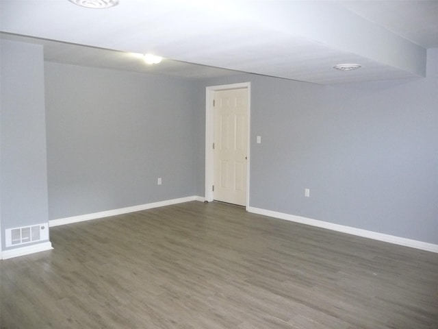
<svg viewBox="0 0 438 329"><path fill-rule="evenodd" d="M1 328L438 328L438 254L188 202L0 262Z"/></svg>

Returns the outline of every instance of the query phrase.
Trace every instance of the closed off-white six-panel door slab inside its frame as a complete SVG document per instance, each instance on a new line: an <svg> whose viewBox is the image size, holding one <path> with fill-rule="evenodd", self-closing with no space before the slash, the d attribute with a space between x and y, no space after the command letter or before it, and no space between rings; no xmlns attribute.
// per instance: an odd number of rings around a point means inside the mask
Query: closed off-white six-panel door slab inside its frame
<svg viewBox="0 0 438 329"><path fill-rule="evenodd" d="M214 94L214 199L246 206L248 89Z"/></svg>

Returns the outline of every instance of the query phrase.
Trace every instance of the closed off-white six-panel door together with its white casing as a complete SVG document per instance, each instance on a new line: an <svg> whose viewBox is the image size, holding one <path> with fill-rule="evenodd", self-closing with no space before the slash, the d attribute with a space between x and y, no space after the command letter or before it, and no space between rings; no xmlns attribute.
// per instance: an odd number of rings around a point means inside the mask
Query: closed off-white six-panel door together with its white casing
<svg viewBox="0 0 438 329"><path fill-rule="evenodd" d="M250 83L206 92L205 199L248 206Z"/></svg>

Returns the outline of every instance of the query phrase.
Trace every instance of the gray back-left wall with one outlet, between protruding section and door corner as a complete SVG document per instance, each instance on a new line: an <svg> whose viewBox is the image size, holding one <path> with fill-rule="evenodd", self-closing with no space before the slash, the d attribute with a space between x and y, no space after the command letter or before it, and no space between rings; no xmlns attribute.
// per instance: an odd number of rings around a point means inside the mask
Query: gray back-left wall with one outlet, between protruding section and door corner
<svg viewBox="0 0 438 329"><path fill-rule="evenodd" d="M51 62L45 73L50 219L195 194L192 81Z"/></svg>

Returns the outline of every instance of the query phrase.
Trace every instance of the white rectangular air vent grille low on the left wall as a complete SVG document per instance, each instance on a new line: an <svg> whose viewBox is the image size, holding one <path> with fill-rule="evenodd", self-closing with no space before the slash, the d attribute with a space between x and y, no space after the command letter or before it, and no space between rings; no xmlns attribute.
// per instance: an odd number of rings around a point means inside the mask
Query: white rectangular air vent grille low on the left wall
<svg viewBox="0 0 438 329"><path fill-rule="evenodd" d="M5 231L6 247L49 240L49 223L23 226L22 228L7 228Z"/></svg>

